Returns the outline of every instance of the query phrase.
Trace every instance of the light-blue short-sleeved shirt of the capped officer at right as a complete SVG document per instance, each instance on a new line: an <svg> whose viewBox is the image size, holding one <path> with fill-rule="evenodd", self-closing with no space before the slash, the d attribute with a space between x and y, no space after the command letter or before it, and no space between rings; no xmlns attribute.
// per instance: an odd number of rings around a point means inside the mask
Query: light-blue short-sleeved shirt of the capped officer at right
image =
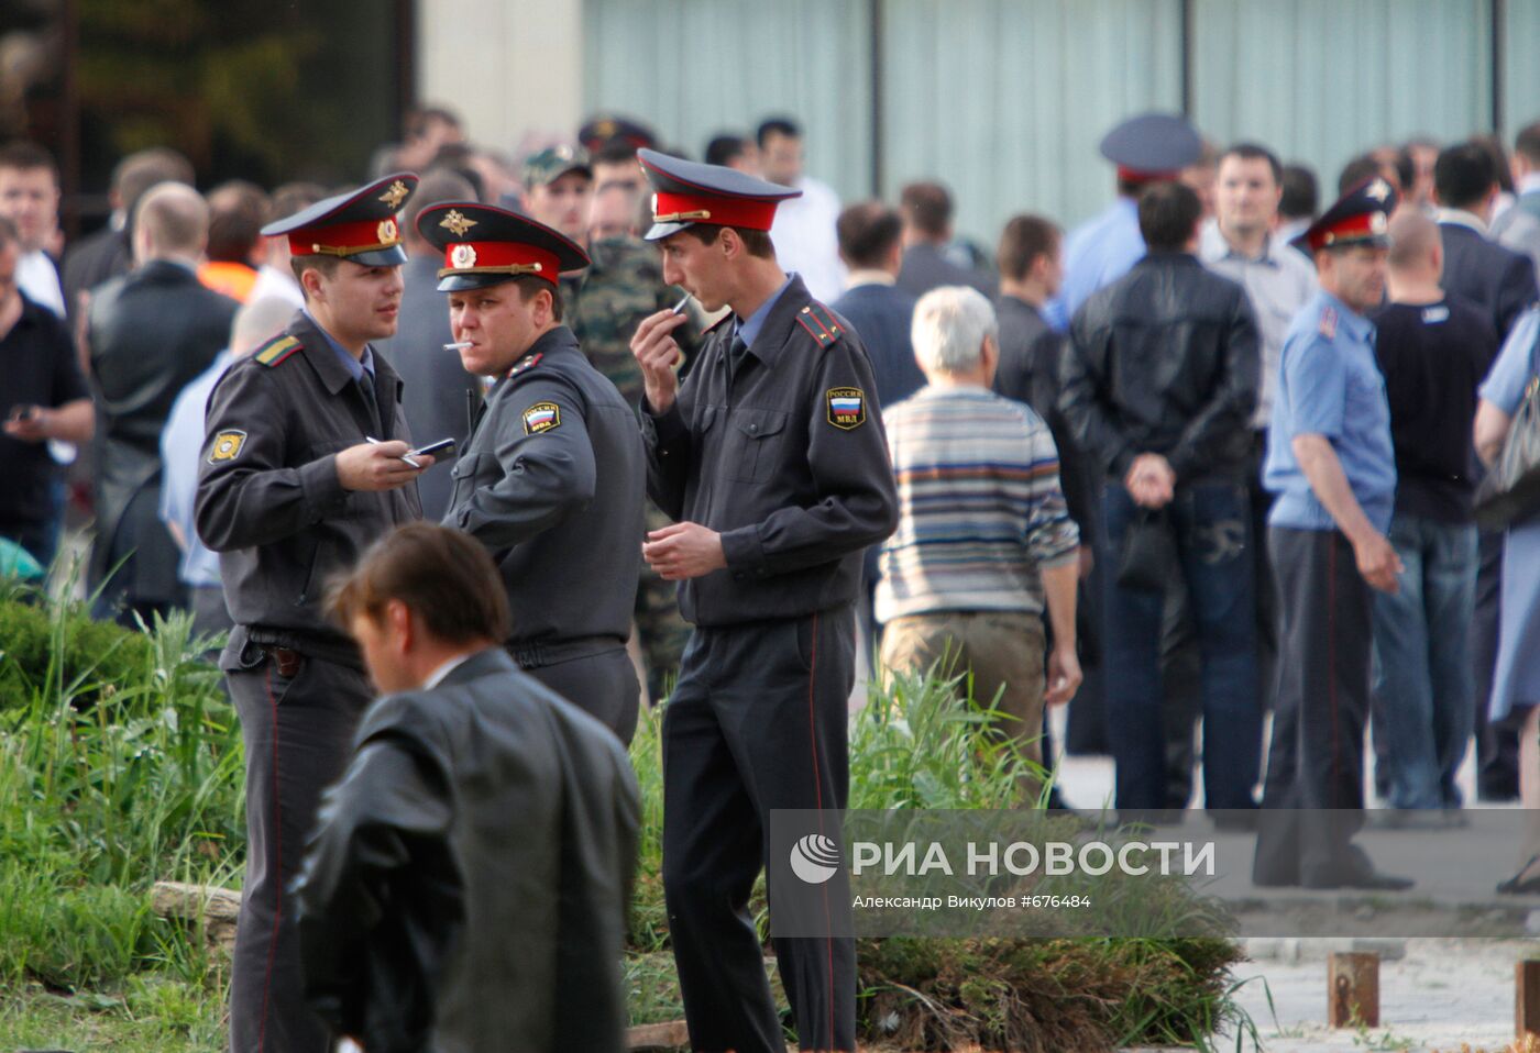
<svg viewBox="0 0 1540 1053"><path fill-rule="evenodd" d="M1277 399L1267 428L1263 485L1278 494L1267 522L1337 530L1294 456L1295 436L1324 436L1363 514L1380 533L1395 506L1391 403L1374 359L1374 325L1321 291L1283 340Z"/></svg>

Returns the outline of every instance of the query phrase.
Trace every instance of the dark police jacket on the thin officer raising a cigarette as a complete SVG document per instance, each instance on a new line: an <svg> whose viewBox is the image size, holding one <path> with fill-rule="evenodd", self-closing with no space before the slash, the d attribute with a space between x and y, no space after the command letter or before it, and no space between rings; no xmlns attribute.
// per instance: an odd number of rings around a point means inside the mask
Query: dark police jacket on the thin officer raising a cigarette
<svg viewBox="0 0 1540 1053"><path fill-rule="evenodd" d="M859 337L793 277L728 380L732 316L675 405L642 402L647 490L675 520L719 531L727 568L687 580L696 625L850 603L861 550L898 523L887 439Z"/></svg>

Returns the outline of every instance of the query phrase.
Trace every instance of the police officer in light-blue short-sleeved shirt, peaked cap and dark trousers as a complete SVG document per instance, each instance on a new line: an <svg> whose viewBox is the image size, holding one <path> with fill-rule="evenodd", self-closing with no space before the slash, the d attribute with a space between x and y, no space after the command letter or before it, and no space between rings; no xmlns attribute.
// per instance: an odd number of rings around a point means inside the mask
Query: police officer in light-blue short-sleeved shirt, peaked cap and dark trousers
<svg viewBox="0 0 1540 1053"><path fill-rule="evenodd" d="M1395 191L1371 179L1304 232L1321 288L1289 326L1263 485L1278 583L1278 693L1252 881L1409 887L1351 844L1363 825L1372 591L1397 591L1391 408L1366 316L1384 291Z"/></svg>

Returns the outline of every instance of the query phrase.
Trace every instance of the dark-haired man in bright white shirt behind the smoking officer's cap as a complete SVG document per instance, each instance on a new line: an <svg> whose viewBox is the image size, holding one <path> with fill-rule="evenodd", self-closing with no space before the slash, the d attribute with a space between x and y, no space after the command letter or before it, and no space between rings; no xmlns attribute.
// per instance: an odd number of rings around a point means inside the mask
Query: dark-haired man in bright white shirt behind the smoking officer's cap
<svg viewBox="0 0 1540 1053"><path fill-rule="evenodd" d="M759 125L759 168L772 183L795 186L801 197L781 202L770 239L776 259L802 277L815 300L832 303L845 289L839 262L839 196L802 174L802 129L788 117L768 117Z"/></svg>

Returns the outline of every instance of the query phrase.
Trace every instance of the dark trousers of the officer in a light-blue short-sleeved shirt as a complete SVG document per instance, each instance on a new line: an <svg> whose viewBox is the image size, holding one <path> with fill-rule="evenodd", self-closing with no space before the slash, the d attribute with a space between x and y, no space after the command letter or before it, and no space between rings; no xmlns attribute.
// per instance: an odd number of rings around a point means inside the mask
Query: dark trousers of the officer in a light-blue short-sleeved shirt
<svg viewBox="0 0 1540 1053"><path fill-rule="evenodd" d="M1272 526L1267 540L1278 677L1252 879L1329 887L1371 870L1349 841L1363 825L1372 596L1340 531Z"/></svg>

